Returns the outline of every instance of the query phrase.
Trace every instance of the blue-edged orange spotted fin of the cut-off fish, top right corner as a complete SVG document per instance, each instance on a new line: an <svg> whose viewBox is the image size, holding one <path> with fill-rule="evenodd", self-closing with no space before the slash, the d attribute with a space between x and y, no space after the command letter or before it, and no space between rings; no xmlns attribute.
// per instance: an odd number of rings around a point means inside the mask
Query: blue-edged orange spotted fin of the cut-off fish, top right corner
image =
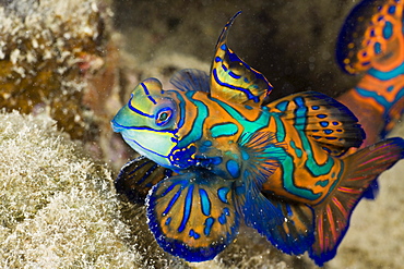
<svg viewBox="0 0 404 269"><path fill-rule="evenodd" d="M349 74L401 63L403 3L365 0L347 16L336 42L336 59Z"/></svg>

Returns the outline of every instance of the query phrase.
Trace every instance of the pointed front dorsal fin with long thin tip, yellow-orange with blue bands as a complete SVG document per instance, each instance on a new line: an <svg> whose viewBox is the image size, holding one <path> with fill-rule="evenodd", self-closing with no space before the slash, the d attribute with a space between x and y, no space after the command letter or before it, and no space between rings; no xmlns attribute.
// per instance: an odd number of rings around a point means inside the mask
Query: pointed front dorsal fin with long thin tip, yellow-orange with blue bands
<svg viewBox="0 0 404 269"><path fill-rule="evenodd" d="M227 47L227 33L236 13L225 25L216 44L211 66L211 95L230 102L259 106L272 90L271 84Z"/></svg>

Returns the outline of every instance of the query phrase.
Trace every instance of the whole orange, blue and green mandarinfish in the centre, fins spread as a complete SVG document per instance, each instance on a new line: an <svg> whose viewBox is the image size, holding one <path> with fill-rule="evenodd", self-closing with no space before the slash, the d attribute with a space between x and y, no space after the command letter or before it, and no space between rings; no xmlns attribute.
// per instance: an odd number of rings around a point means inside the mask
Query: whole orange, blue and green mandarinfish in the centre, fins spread
<svg viewBox="0 0 404 269"><path fill-rule="evenodd" d="M163 89L140 83L112 120L144 157L116 186L146 203L150 230L166 252L213 259L241 222L290 255L332 259L364 191L404 158L404 140L359 147L365 133L341 102L316 91L269 105L272 86L227 46L226 24L210 75L182 70Z"/></svg>

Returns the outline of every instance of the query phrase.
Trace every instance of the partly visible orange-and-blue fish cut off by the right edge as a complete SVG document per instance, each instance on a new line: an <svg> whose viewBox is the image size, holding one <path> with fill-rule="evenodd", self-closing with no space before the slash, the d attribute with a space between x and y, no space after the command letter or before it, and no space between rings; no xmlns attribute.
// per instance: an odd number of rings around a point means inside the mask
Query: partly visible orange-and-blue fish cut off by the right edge
<svg viewBox="0 0 404 269"><path fill-rule="evenodd" d="M338 98L366 132L361 147L384 138L404 112L403 7L402 0L361 1L337 39L340 66L348 74L365 73L356 87ZM375 198L377 192L373 181L365 196Z"/></svg>

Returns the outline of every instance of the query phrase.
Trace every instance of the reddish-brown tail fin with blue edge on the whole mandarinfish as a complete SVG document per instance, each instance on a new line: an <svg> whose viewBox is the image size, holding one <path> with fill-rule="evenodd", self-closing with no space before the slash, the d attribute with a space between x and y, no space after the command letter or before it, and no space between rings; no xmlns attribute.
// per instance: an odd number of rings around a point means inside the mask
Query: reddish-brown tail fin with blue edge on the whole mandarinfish
<svg viewBox="0 0 404 269"><path fill-rule="evenodd" d="M344 159L341 183L316 210L316 242L309 250L317 265L332 259L349 227L352 211L364 191L384 170L404 158L404 139L381 140Z"/></svg>

